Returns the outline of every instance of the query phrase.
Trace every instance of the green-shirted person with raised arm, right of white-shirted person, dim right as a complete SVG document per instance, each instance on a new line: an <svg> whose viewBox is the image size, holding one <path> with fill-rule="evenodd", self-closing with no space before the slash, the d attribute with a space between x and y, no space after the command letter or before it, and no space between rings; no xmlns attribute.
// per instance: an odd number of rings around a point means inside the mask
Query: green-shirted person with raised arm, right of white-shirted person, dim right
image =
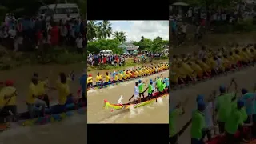
<svg viewBox="0 0 256 144"><path fill-rule="evenodd" d="M232 101L236 98L236 93L227 93L226 86L219 87L220 95L216 98L216 111L218 114L218 130L224 134L224 126L231 113Z"/></svg>

